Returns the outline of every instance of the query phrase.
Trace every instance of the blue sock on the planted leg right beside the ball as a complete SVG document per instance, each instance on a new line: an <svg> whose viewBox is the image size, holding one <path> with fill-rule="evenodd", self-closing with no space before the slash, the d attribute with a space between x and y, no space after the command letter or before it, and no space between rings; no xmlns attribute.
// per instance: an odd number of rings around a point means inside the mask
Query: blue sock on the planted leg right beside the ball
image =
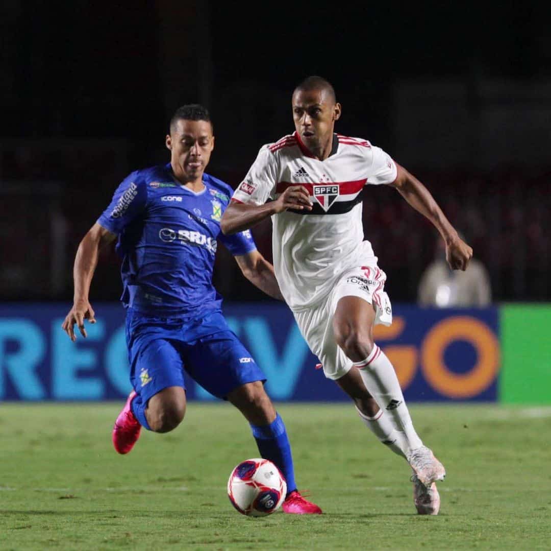
<svg viewBox="0 0 551 551"><path fill-rule="evenodd" d="M264 459L269 459L282 473L287 481L287 494L296 490L295 470L291 445L285 430L283 419L277 414L269 425L251 425L258 451Z"/></svg>

